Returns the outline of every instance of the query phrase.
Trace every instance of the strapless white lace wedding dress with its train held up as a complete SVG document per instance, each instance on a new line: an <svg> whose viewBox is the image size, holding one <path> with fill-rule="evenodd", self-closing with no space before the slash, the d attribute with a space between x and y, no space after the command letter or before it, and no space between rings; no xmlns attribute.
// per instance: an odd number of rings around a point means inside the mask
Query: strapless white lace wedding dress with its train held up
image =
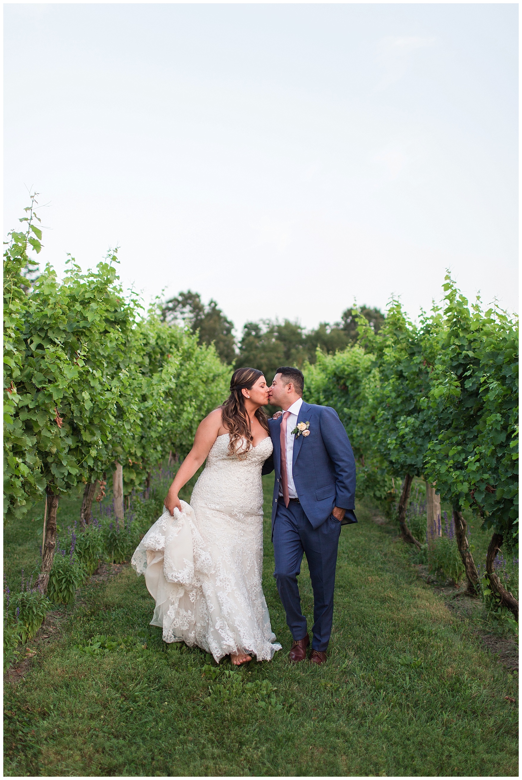
<svg viewBox="0 0 522 780"><path fill-rule="evenodd" d="M243 652L266 661L281 649L261 584L261 468L272 441L263 439L245 459L228 456L228 441L228 434L217 437L190 505L182 501L174 517L165 509L132 566L145 575L156 601L150 623L163 629L165 642L197 645L216 661Z"/></svg>

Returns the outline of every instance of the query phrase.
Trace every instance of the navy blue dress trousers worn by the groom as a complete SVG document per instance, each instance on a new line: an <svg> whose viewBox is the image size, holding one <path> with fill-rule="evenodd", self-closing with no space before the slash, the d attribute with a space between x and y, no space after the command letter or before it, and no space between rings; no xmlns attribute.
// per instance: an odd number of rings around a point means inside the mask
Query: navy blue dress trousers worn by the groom
<svg viewBox="0 0 522 780"><path fill-rule="evenodd" d="M306 636L306 618L301 612L298 574L303 553L309 565L313 589L312 650L326 652L332 633L333 587L341 525L332 515L319 528L312 527L298 502L288 506L282 499L273 522L273 576L295 640Z"/></svg>

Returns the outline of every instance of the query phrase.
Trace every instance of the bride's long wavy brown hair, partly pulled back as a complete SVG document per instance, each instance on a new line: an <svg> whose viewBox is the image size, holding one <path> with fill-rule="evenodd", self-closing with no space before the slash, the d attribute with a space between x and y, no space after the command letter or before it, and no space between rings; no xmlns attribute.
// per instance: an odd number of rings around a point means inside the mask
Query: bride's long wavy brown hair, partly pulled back
<svg viewBox="0 0 522 780"><path fill-rule="evenodd" d="M237 452L241 448L242 439L246 439L252 445L254 438L250 430L249 414L245 409L245 396L242 394L242 389L252 389L259 377L263 376L263 371L258 371L256 368L238 368L232 374L230 395L223 406L221 406L223 425L230 431L230 441L228 442L229 456L237 455L239 459L246 458L246 452ZM268 420L262 406L259 406L255 416L266 433L269 434Z"/></svg>

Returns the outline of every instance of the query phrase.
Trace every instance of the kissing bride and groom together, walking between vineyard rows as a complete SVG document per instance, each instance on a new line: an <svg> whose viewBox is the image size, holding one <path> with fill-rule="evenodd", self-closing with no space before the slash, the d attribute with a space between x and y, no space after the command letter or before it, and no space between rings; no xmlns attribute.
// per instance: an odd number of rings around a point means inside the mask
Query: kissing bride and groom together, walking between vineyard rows
<svg viewBox="0 0 522 780"><path fill-rule="evenodd" d="M165 642L196 645L218 663L230 655L237 666L281 650L262 585L261 477L275 471L273 576L293 638L289 658L304 661L309 646L297 580L305 554L314 595L309 660L326 661L340 528L357 523L355 462L337 412L303 401L303 387L298 368L278 368L270 387L261 371L238 368L223 406L199 424L163 515L132 555ZM268 403L283 413L267 419ZM190 504L180 501L205 460Z"/></svg>

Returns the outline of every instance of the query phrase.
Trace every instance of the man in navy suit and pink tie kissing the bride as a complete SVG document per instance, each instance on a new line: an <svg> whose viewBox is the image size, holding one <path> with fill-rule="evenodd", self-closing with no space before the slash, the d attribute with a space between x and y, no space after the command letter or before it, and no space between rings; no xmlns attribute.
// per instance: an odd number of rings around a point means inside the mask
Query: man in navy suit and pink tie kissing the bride
<svg viewBox="0 0 522 780"><path fill-rule="evenodd" d="M268 420L273 456L263 466L263 474L275 470L273 576L294 638L289 658L304 661L310 642L297 580L306 553L314 596L310 661L323 664L332 631L340 527L357 523L355 461L337 412L330 406L305 403L303 387L298 368L277 369L269 402L284 412Z"/></svg>

